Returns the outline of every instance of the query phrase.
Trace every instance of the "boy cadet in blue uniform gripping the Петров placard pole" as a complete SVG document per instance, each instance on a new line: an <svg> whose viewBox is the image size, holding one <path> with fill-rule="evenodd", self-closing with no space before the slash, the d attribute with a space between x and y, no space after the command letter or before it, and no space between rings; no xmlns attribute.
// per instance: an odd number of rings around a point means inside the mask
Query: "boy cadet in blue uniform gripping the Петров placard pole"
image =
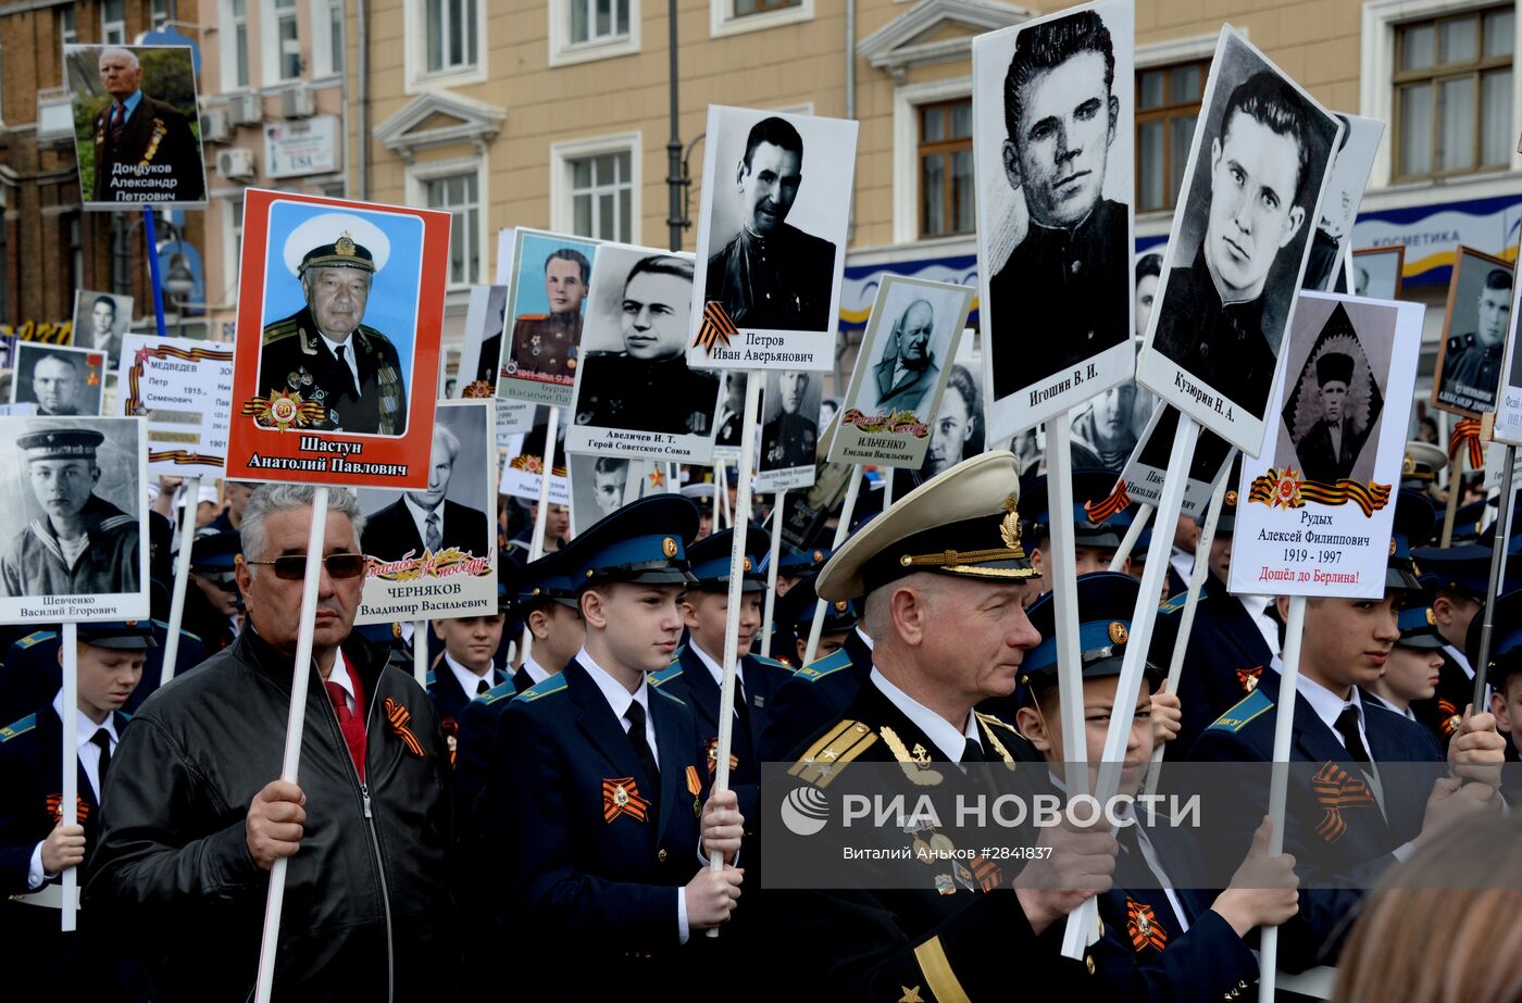
<svg viewBox="0 0 1522 1003"><path fill-rule="evenodd" d="M700 854L737 852L743 819L734 791L706 798L693 711L645 679L676 653L696 533L693 502L654 495L580 536L586 645L508 703L492 743L482 798L501 866L486 878L501 930L487 936L524 998L711 992L691 951L729 919L741 872ZM568 944L574 963L542 963Z"/></svg>

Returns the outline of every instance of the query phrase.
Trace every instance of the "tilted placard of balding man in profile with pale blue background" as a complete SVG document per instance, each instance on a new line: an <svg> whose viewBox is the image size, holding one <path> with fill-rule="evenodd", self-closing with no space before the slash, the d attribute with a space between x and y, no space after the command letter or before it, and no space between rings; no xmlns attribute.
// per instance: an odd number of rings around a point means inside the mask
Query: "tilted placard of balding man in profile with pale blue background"
<svg viewBox="0 0 1522 1003"><path fill-rule="evenodd" d="M973 295L968 286L883 277L836 416L829 460L886 467L925 461Z"/></svg>

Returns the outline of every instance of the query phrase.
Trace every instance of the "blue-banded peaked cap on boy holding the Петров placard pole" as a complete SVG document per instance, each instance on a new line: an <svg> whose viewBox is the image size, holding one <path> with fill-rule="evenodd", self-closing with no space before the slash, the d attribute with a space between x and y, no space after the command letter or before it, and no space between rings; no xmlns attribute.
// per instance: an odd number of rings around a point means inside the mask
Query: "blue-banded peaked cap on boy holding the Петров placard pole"
<svg viewBox="0 0 1522 1003"><path fill-rule="evenodd" d="M686 548L697 537L697 505L680 495L647 495L577 534L572 577L578 587L603 581L691 584Z"/></svg>

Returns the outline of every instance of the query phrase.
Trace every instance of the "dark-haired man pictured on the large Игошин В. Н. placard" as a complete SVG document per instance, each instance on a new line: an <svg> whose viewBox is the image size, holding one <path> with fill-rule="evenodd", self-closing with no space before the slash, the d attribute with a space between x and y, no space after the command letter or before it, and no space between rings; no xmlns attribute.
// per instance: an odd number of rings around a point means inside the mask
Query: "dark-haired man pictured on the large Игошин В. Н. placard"
<svg viewBox="0 0 1522 1003"><path fill-rule="evenodd" d="M1126 205L1103 196L1120 119L1114 78L1110 29L1093 11L1035 24L1015 40L1005 75L1003 160L1029 221L988 286L995 397L1131 335Z"/></svg>

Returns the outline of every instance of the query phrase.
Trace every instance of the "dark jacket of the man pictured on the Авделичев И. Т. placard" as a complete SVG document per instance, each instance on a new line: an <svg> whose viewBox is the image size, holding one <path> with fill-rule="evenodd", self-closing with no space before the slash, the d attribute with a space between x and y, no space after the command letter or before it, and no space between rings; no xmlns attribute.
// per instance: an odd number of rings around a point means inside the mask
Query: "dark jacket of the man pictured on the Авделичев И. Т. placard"
<svg viewBox="0 0 1522 1003"><path fill-rule="evenodd" d="M718 377L691 370L686 356L647 362L624 352L587 352L577 425L665 435L708 435Z"/></svg>

